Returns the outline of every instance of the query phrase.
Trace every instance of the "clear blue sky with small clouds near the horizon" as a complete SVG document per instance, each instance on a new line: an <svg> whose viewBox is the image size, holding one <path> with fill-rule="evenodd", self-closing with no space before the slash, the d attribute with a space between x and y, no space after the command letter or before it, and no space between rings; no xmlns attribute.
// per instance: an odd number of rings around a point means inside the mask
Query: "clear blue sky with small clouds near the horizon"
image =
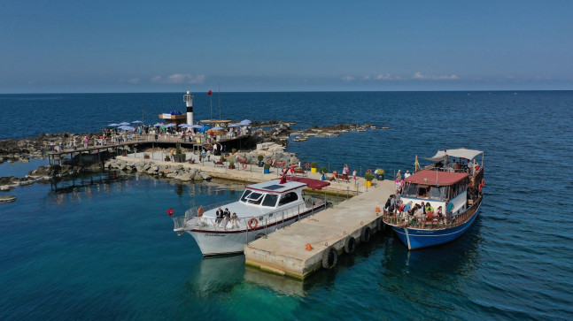
<svg viewBox="0 0 573 321"><path fill-rule="evenodd" d="M0 0L0 94L571 90L573 1Z"/></svg>

